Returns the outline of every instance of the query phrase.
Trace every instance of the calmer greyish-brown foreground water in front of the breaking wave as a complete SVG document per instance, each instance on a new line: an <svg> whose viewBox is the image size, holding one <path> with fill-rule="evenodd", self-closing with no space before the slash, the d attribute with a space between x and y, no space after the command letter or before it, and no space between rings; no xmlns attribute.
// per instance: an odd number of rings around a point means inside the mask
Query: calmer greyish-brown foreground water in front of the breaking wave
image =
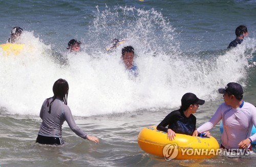
<svg viewBox="0 0 256 167"><path fill-rule="evenodd" d="M217 102L208 102L200 106L197 117L197 126L209 120L214 114ZM211 108L211 109L210 109ZM172 160L165 161L144 153L137 144L140 130L146 126L157 125L170 111L139 110L137 112L116 113L90 117L75 117L76 123L84 131L99 137L100 144L84 141L77 137L68 127L63 125L62 136L66 144L60 147L42 146L35 143L39 130L39 116L1 116L1 165L2 166L144 166L163 164L174 166L199 163L200 165L224 166L233 163L253 166L255 155L240 158L216 156L204 160ZM6 127L5 129L3 127ZM220 144L219 125L211 130ZM255 152L255 145L252 150ZM10 154L10 150L13 150ZM22 154L22 156L20 156Z"/></svg>

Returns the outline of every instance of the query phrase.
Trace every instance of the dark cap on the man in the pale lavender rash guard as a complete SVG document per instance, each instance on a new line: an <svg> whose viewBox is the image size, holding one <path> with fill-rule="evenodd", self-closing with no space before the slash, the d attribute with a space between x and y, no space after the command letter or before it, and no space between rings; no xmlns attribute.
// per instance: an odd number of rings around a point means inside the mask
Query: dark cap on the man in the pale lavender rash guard
<svg viewBox="0 0 256 167"><path fill-rule="evenodd" d="M236 82L229 82L225 88L220 88L218 91L221 94L227 92L230 95L237 96L240 96L244 93L242 86Z"/></svg>

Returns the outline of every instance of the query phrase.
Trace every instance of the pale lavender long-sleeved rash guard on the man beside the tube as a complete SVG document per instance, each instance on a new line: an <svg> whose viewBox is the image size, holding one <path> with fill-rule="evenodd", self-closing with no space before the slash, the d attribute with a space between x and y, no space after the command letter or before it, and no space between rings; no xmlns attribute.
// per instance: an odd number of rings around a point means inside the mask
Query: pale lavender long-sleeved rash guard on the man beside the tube
<svg viewBox="0 0 256 167"><path fill-rule="evenodd" d="M252 126L256 127L256 107L254 105L243 101L238 108L232 108L224 102L209 122L204 123L197 129L198 132L202 133L210 130L221 119L223 122L221 144L225 148L237 149L238 144L248 137L252 142L256 141L256 133L251 136Z"/></svg>

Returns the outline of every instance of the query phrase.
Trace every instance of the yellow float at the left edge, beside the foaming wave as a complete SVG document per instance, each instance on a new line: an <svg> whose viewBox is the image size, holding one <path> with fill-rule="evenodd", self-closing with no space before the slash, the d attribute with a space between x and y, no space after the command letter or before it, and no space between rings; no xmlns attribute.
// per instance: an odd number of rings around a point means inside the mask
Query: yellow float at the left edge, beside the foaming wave
<svg viewBox="0 0 256 167"><path fill-rule="evenodd" d="M25 47L25 44L7 43L1 44L0 48L3 49L4 55L18 55Z"/></svg>

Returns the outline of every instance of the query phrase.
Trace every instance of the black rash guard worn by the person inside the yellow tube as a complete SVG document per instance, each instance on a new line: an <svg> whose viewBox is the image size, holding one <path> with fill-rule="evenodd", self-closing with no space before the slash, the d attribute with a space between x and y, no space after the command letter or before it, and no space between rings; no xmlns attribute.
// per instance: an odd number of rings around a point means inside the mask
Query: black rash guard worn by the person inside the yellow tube
<svg viewBox="0 0 256 167"><path fill-rule="evenodd" d="M196 130L196 117L191 114L188 118L181 110L175 110L168 114L163 121L157 126L157 130L167 132L172 129L175 133L192 135ZM166 126L168 125L168 128Z"/></svg>

